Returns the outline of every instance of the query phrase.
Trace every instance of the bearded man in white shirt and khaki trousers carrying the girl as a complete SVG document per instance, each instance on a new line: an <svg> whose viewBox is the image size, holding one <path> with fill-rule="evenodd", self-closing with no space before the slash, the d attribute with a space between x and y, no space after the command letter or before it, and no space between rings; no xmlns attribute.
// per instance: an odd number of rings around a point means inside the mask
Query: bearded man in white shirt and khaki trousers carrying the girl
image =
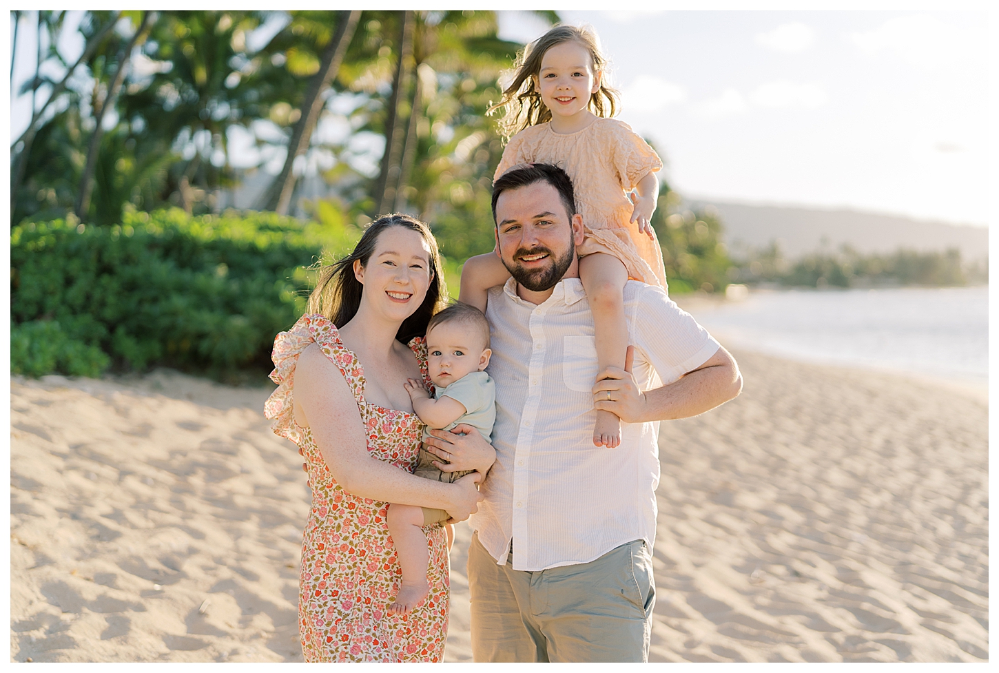
<svg viewBox="0 0 999 673"><path fill-rule="evenodd" d="M737 395L738 367L662 290L632 281L628 364L593 385L593 323L574 250L582 221L568 176L514 168L494 184L493 213L512 278L487 309L497 460L471 519L473 655L646 661L658 421ZM594 408L621 418L617 448L593 445ZM454 440L433 443L459 451Z"/></svg>

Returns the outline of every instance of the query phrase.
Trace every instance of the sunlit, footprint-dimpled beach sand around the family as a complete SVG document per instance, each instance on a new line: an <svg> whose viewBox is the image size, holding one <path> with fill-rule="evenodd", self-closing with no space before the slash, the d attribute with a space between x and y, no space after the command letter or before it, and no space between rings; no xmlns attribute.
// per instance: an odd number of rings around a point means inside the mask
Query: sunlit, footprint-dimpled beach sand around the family
<svg viewBox="0 0 999 673"><path fill-rule="evenodd" d="M740 397L662 423L650 660L987 660L982 393L735 355ZM12 661L302 660L309 492L269 392L12 379Z"/></svg>

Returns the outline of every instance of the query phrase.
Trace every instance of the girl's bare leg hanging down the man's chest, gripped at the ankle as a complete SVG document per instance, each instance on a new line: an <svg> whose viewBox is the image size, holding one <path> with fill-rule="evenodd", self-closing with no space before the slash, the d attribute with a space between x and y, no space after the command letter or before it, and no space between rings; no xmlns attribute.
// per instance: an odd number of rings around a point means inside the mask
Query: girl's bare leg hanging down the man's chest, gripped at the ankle
<svg viewBox="0 0 999 673"><path fill-rule="evenodd" d="M627 270L611 255L594 253L579 260L579 280L593 313L596 361L599 370L608 366L624 368L627 351L627 325L624 321L624 284ZM621 441L620 419L610 411L596 412L593 444L614 448Z"/></svg>

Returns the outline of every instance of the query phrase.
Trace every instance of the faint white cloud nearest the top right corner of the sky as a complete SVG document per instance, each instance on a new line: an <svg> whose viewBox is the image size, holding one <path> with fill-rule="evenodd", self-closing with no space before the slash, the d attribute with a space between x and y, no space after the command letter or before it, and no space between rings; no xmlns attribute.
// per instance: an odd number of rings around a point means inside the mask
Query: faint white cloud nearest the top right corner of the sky
<svg viewBox="0 0 999 673"><path fill-rule="evenodd" d="M955 26L922 14L889 19L874 30L850 33L848 39L865 54L889 52L932 69L967 59L971 44Z"/></svg>

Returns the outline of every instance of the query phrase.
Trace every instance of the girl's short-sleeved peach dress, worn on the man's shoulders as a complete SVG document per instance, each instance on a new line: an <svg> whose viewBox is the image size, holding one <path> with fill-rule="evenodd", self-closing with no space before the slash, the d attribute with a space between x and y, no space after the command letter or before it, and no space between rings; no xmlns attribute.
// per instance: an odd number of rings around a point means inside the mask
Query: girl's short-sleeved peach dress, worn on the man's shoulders
<svg viewBox="0 0 999 673"><path fill-rule="evenodd" d="M495 178L523 163L553 164L572 180L585 230L576 248L580 257L612 255L624 263L629 278L666 290L659 242L628 222L634 205L625 196L646 175L660 170L662 162L631 127L604 117L568 134L555 133L549 122L530 126L510 138Z"/></svg>

